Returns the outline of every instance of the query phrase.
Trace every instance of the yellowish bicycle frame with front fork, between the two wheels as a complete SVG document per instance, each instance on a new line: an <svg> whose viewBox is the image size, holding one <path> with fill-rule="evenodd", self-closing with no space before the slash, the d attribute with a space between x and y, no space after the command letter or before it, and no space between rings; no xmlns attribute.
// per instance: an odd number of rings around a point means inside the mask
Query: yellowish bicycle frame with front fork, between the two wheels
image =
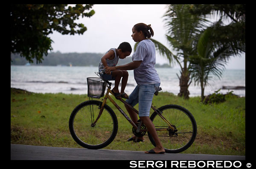
<svg viewBox="0 0 256 169"><path fill-rule="evenodd" d="M96 120L93 122L92 125L95 125L96 122L99 120L100 116L102 115L102 112L103 112L103 109L104 109L104 105L106 104L106 101L107 99L109 99L111 101L111 103L120 111L120 113L131 123L131 125L137 130L138 127L136 124L134 124L134 122L125 114L125 112L118 106L118 104L116 104L116 102L111 98L111 96L109 96L109 93L111 93L112 95L114 95L111 91L111 85L108 86L108 90L107 90L107 93L105 95L105 98L103 100L103 103L100 107L100 111L99 111L99 115L98 117L96 118ZM125 105L127 105L128 107L130 107L132 110L134 110L134 112L136 112L137 114L139 114L138 110L136 110L134 107L132 107L130 104L128 104L126 101L124 101L123 99L119 99L122 103L124 103ZM163 119L163 121L166 122L166 124L168 124L169 128L168 129L156 129L157 131L160 131L160 130L175 130L174 127L172 127L172 124L166 120L166 118L163 117L162 113L156 109L153 104L151 105L151 108ZM143 131L143 132L146 132L148 131L147 129L140 129L140 131Z"/></svg>

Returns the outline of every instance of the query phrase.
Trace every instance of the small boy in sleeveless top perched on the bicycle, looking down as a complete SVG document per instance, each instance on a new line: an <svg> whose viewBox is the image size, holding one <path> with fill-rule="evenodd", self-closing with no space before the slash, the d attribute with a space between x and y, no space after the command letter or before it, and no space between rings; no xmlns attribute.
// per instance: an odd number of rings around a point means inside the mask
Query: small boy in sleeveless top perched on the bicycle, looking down
<svg viewBox="0 0 256 169"><path fill-rule="evenodd" d="M111 48L102 57L99 63L99 71L104 70L108 67L116 66L119 58L125 59L131 54L131 45L128 42L122 42L119 47ZM114 80L115 87L111 90L116 97L116 99L129 99L128 95L125 93L125 87L128 81L128 72L126 70L113 70L111 74L101 74L101 77L105 80ZM119 93L119 83L122 78L121 93Z"/></svg>

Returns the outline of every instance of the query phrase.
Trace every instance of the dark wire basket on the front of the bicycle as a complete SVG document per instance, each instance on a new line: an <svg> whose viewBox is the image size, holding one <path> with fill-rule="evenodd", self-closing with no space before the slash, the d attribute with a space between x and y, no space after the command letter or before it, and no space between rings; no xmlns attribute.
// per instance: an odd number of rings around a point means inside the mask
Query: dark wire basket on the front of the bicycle
<svg viewBox="0 0 256 169"><path fill-rule="evenodd" d="M87 77L88 97L99 99L104 96L107 83L98 77Z"/></svg>

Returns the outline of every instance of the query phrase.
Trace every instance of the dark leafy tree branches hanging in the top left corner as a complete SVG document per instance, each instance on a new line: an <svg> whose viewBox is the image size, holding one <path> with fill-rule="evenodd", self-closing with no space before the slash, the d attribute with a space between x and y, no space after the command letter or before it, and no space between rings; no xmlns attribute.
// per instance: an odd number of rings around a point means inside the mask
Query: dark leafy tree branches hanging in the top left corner
<svg viewBox="0 0 256 169"><path fill-rule="evenodd" d="M87 28L82 23L75 23L82 17L91 17L93 5L74 7L67 4L11 4L11 54L17 53L30 63L36 59L41 63L43 55L52 50L52 39L47 35L52 31L61 34L83 34ZM11 58L12 61L12 58Z"/></svg>

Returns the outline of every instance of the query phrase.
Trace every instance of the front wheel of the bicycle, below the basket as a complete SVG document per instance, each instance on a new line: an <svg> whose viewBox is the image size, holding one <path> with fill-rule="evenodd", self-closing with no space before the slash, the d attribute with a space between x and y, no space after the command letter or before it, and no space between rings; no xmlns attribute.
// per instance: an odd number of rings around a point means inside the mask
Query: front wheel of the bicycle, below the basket
<svg viewBox="0 0 256 169"><path fill-rule="evenodd" d="M102 149L116 137L118 122L113 110L105 104L102 115L99 115L101 101L85 101L71 113L69 119L70 134L73 139L87 149Z"/></svg>

